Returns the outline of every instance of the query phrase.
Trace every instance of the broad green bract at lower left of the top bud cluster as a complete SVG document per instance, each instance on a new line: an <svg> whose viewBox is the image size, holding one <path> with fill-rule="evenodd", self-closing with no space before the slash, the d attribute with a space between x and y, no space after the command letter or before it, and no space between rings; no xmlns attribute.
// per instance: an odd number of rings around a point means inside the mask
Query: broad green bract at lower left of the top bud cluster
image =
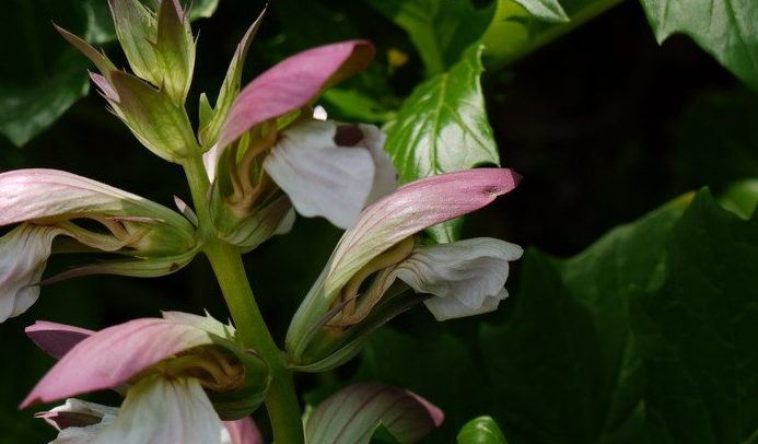
<svg viewBox="0 0 758 444"><path fill-rule="evenodd" d="M112 102L116 114L150 151L170 162L196 150L197 141L184 107L165 89L155 89L141 79L116 71L110 81L118 97Z"/></svg>

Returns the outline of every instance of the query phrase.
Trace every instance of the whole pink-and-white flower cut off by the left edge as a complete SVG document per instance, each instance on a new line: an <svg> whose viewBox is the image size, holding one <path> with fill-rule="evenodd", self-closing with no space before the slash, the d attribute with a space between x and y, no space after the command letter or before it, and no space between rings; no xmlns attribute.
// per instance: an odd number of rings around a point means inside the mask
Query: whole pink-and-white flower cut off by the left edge
<svg viewBox="0 0 758 444"><path fill-rule="evenodd" d="M180 214L139 196L71 173L18 170L0 174L0 322L24 313L56 249L101 250L126 260L100 262L55 279L91 273L168 274L198 252L195 227ZM93 224L94 223L94 224ZM55 247L66 236L77 245Z"/></svg>

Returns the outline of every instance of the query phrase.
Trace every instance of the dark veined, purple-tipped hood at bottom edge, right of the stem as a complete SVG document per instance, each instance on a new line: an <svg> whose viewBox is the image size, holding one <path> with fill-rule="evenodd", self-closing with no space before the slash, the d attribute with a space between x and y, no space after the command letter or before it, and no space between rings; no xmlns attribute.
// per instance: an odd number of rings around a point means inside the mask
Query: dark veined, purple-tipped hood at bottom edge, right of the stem
<svg viewBox="0 0 758 444"><path fill-rule="evenodd" d="M394 440L413 443L441 421L439 409L418 395L383 384L359 383L313 409L305 423L305 439L308 444L369 444L382 427Z"/></svg>

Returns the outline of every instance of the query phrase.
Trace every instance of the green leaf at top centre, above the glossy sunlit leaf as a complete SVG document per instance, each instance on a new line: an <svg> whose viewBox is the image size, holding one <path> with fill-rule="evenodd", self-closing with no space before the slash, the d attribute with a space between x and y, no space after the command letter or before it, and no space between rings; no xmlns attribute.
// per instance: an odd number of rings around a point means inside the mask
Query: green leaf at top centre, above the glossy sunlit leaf
<svg viewBox="0 0 758 444"><path fill-rule="evenodd" d="M427 72L438 74L460 60L490 21L489 10L476 11L468 0L370 0L382 15L410 36Z"/></svg>

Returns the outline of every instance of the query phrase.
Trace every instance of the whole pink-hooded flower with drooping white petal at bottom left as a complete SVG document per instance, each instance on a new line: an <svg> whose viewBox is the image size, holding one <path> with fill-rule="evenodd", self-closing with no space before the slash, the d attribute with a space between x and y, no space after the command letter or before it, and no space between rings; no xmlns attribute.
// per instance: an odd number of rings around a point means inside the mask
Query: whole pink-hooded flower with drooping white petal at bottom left
<svg viewBox="0 0 758 444"><path fill-rule="evenodd" d="M53 420L61 411L89 411L74 414L85 417L71 424L79 430L60 427L71 414L54 421L61 434L82 434L92 443L200 444L255 432L249 424L236 424L222 433L222 419L245 418L263 402L268 366L255 352L240 349L234 328L210 316L167 312L163 318L135 319L98 332L37 323L26 332L61 358L22 408L104 388L126 392L118 410L69 400L43 413Z"/></svg>

